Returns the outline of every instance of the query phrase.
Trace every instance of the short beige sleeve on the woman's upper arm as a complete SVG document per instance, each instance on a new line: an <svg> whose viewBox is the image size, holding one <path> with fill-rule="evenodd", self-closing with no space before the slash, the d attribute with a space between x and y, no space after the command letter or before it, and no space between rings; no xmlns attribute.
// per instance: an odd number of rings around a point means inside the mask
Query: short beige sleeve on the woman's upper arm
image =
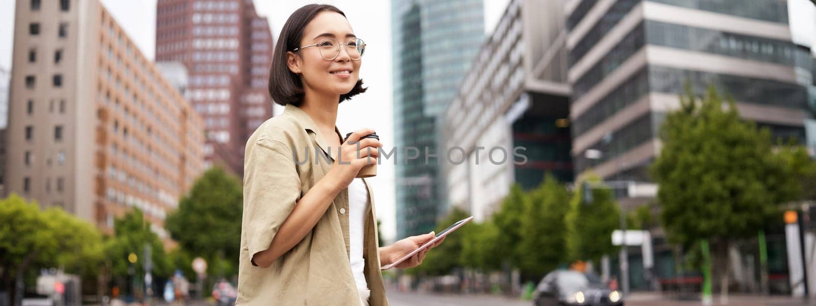
<svg viewBox="0 0 816 306"><path fill-rule="evenodd" d="M286 144L277 140L256 141L246 156L243 214L250 260L269 248L278 228L295 209L300 177L293 158Z"/></svg>

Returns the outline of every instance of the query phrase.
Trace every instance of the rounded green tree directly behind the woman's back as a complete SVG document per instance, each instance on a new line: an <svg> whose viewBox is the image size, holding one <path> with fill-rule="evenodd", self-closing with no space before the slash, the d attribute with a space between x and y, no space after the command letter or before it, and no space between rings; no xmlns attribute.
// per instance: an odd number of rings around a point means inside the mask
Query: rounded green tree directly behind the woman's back
<svg viewBox="0 0 816 306"><path fill-rule="evenodd" d="M208 274L231 276L237 273L242 211L241 182L212 167L167 215L165 228L184 252L206 259Z"/></svg>

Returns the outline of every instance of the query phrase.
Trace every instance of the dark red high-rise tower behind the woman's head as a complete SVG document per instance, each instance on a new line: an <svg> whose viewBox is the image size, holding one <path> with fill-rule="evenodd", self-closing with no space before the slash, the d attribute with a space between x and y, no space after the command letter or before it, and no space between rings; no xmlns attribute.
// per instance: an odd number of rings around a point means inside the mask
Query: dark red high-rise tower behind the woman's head
<svg viewBox="0 0 816 306"><path fill-rule="evenodd" d="M206 125L206 164L243 173L246 140L272 117L272 33L252 0L158 0L156 60L188 70L184 95Z"/></svg>

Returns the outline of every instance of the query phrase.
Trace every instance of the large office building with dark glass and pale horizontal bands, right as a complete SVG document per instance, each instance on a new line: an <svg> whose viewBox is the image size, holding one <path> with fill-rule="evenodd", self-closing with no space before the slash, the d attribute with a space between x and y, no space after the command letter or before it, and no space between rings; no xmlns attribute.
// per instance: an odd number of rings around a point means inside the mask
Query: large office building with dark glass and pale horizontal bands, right
<svg viewBox="0 0 816 306"><path fill-rule="evenodd" d="M649 180L659 127L685 82L698 95L713 84L743 118L805 140L808 93L786 0L572 0L565 14L575 171Z"/></svg>

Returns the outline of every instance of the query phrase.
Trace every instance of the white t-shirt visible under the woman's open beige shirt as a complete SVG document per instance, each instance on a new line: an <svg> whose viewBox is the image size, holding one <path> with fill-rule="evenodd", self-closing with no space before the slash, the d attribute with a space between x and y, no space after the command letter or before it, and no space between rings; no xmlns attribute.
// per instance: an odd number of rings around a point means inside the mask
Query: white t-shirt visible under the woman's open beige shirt
<svg viewBox="0 0 816 306"><path fill-rule="evenodd" d="M366 263L362 259L363 221L366 220L366 204L368 203L368 189L362 179L355 178L348 184L348 242L354 281L358 290L367 290L366 275L363 268Z"/></svg>

